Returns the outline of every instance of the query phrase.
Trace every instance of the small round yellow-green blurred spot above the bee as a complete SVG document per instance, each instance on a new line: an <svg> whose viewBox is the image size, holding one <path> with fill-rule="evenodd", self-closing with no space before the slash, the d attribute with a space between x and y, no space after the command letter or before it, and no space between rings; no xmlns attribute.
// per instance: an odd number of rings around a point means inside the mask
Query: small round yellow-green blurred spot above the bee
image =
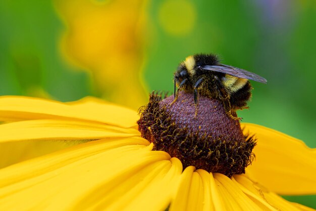
<svg viewBox="0 0 316 211"><path fill-rule="evenodd" d="M171 35L181 36L190 33L195 20L195 7L188 1L165 1L159 10L160 24Z"/></svg>

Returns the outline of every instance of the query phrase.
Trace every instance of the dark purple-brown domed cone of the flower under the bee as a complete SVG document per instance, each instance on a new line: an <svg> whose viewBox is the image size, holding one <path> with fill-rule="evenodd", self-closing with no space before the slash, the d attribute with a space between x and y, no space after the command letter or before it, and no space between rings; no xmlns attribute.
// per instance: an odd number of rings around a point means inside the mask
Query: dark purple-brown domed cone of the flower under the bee
<svg viewBox="0 0 316 211"><path fill-rule="evenodd" d="M228 177L245 173L255 140L243 135L239 121L226 114L222 102L201 96L195 114L192 94L180 92L171 104L173 100L151 94L140 110L139 131L153 149L179 158L184 168L193 165Z"/></svg>

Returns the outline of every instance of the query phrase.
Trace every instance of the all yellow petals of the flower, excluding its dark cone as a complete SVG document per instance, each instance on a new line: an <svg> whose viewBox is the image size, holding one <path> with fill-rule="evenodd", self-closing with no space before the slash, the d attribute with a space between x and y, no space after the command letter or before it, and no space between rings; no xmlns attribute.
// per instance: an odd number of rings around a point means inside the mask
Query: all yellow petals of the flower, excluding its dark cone
<svg viewBox="0 0 316 211"><path fill-rule="evenodd" d="M316 193L316 151L303 142L242 123L256 157L229 178L182 171L141 138L137 119L95 98L0 97L0 143L89 141L2 168L0 210L313 210L277 195Z"/></svg>

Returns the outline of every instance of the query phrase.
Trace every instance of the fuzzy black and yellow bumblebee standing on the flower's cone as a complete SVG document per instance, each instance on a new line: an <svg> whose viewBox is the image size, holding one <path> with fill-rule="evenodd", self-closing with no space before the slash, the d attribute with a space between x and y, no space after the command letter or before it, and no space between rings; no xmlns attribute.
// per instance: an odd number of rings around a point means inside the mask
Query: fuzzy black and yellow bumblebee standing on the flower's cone
<svg viewBox="0 0 316 211"><path fill-rule="evenodd" d="M225 112L232 119L238 109L248 108L252 87L248 81L267 83L257 74L237 67L221 64L214 54L195 54L181 62L174 73L174 102L179 91L193 93L195 115L197 114L198 95L214 98L223 102ZM178 89L176 90L176 87Z"/></svg>

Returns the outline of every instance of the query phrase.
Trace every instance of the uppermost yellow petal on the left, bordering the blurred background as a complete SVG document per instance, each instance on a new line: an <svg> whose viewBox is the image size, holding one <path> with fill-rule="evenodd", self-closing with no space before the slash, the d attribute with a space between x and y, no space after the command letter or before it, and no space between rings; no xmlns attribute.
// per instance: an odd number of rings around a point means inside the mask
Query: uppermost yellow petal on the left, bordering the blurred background
<svg viewBox="0 0 316 211"><path fill-rule="evenodd" d="M130 128L135 126L138 114L91 97L69 104L30 97L0 97L0 121L44 118L79 119Z"/></svg>

